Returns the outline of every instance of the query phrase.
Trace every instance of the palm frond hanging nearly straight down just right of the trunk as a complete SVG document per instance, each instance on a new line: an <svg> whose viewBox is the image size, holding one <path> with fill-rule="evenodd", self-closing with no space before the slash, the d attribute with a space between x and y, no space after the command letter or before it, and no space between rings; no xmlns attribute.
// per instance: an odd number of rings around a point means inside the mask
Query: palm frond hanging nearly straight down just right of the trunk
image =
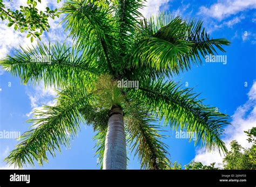
<svg viewBox="0 0 256 187"><path fill-rule="evenodd" d="M170 165L167 157L164 138L160 134L159 126L155 125L153 117L134 106L133 112L125 116L125 124L131 150L139 157L140 166L144 169L166 169Z"/></svg>

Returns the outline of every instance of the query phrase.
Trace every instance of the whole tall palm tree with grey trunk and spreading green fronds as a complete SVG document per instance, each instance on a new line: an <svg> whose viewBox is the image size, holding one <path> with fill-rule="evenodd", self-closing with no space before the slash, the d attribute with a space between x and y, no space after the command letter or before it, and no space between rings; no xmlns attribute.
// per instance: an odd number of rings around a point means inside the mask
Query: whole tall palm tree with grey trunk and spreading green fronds
<svg viewBox="0 0 256 187"><path fill-rule="evenodd" d="M226 152L220 136L227 116L202 104L192 89L172 78L202 64L203 56L225 52L226 39L212 39L202 22L161 14L146 20L142 0L119 0L98 8L93 1L68 1L62 24L73 45L38 44L1 60L22 83L44 82L57 91L55 106L35 111L33 125L5 161L15 167L43 164L79 132L80 124L96 132L96 154L103 169L126 169L126 146L145 169L170 168L166 138L156 125L197 132L195 145ZM51 63L31 62L51 56ZM39 58L40 59L40 58ZM120 88L119 81L138 81ZM129 82L132 83L132 82ZM134 82L133 82L134 83ZM134 85L133 85L134 86Z"/></svg>

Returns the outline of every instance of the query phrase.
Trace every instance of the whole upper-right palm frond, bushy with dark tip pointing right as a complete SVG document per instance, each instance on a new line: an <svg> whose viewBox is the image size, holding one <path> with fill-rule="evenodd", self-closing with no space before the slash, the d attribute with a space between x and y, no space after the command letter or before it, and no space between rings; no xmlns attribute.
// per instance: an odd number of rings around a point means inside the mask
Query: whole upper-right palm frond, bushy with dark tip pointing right
<svg viewBox="0 0 256 187"><path fill-rule="evenodd" d="M197 20L183 20L180 17L161 15L140 22L138 40L134 43L130 67L151 67L163 70L166 76L178 75L201 64L202 57L215 54L223 45L230 45L226 39L212 39L206 33L203 23ZM155 23L156 22L156 23Z"/></svg>

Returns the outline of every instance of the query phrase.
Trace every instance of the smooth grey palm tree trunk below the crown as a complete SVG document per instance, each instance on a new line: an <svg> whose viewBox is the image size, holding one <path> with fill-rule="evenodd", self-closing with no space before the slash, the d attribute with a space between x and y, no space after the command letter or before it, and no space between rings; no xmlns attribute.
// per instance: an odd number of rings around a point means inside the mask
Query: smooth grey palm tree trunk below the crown
<svg viewBox="0 0 256 187"><path fill-rule="evenodd" d="M111 109L105 140L103 169L126 169L126 141L123 110Z"/></svg>

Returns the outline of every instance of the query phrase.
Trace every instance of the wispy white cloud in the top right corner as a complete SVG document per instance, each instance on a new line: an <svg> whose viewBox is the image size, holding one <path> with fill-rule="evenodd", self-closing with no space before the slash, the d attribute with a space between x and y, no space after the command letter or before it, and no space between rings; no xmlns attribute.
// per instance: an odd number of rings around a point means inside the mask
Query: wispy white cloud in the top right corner
<svg viewBox="0 0 256 187"><path fill-rule="evenodd" d="M208 17L217 18L222 20L231 15L235 15L246 9L255 9L256 1L254 0L225 0L220 3L215 3L207 8L206 6L201 6L199 8L199 15L204 15Z"/></svg>

